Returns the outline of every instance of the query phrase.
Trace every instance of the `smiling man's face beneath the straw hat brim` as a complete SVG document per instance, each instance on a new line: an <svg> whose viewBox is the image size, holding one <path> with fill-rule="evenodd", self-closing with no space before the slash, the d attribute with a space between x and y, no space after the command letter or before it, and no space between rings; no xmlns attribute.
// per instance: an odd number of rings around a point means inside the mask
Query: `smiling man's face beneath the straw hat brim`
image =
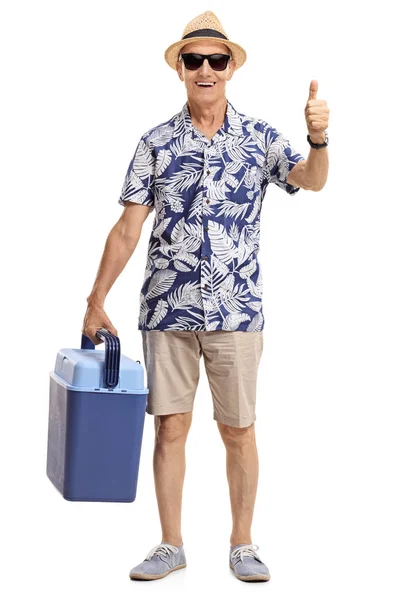
<svg viewBox="0 0 400 600"><path fill-rule="evenodd" d="M213 40L190 42L181 49L181 54L184 52L196 52L197 54L231 53L225 44ZM224 71L214 71L208 60L205 59L197 71L189 71L185 68L182 58L176 63L176 70L181 81L185 82L188 97L203 104L213 104L218 98L225 97L226 82L231 79L235 67L235 62L230 60ZM213 81L215 84L211 88L200 87L197 85L197 81Z"/></svg>

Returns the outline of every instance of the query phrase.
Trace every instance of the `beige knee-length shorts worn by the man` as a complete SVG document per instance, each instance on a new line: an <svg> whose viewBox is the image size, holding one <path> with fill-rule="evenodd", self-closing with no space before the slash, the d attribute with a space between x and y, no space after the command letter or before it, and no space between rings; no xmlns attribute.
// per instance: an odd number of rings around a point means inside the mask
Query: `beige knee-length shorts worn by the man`
<svg viewBox="0 0 400 600"><path fill-rule="evenodd" d="M214 419L233 427L247 427L256 420L263 331L141 332L149 388L147 413L193 410L204 355Z"/></svg>

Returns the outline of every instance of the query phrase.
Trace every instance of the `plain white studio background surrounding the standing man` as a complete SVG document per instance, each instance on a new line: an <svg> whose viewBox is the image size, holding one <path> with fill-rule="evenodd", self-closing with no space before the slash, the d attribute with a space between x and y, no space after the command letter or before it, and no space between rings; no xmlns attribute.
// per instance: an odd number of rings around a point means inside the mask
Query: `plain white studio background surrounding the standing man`
<svg viewBox="0 0 400 600"><path fill-rule="evenodd" d="M389 4L3 5L6 598L399 597L398 36ZM248 53L227 84L237 110L267 120L307 157L312 79L330 108L324 189L291 198L272 185L263 203L252 537L271 581L250 588L228 566L225 450L203 363L187 442L186 569L156 582L128 577L161 541L150 415L134 503L68 502L46 477L49 372L60 348L80 347L86 297L140 136L186 101L164 51L205 10ZM153 217L105 305L123 354L142 363L138 300Z"/></svg>

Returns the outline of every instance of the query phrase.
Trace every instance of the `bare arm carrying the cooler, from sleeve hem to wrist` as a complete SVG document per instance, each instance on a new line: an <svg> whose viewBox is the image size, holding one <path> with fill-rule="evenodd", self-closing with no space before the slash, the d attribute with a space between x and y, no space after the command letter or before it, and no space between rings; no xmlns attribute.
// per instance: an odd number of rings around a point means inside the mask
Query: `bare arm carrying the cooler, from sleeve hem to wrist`
<svg viewBox="0 0 400 600"><path fill-rule="evenodd" d="M137 246L143 223L150 211L149 206L134 202L126 204L107 237L96 280L87 298L88 305L104 305L108 292Z"/></svg>

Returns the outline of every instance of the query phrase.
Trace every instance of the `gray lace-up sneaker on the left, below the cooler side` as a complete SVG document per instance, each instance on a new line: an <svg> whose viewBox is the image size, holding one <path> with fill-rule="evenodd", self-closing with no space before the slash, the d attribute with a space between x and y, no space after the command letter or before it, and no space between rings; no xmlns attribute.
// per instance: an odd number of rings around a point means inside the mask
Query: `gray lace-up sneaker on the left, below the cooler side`
<svg viewBox="0 0 400 600"><path fill-rule="evenodd" d="M172 571L186 567L183 544L172 546L162 542L154 546L143 562L131 569L131 579L161 579Z"/></svg>

